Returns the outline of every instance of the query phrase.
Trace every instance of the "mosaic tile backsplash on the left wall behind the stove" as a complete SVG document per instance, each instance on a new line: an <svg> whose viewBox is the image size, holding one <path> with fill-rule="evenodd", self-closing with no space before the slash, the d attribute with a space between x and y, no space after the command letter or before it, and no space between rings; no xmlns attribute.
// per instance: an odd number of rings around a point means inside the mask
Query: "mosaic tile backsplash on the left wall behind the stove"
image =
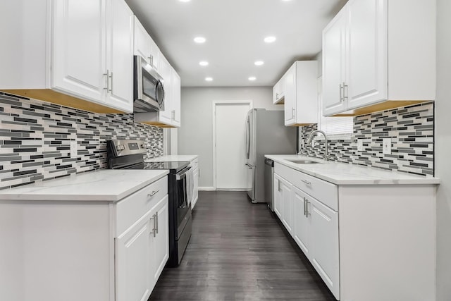
<svg viewBox="0 0 451 301"><path fill-rule="evenodd" d="M106 168L106 140L145 140L145 158L163 154L163 130L134 123L133 114L90 113L0 92L0 122L0 189Z"/></svg>

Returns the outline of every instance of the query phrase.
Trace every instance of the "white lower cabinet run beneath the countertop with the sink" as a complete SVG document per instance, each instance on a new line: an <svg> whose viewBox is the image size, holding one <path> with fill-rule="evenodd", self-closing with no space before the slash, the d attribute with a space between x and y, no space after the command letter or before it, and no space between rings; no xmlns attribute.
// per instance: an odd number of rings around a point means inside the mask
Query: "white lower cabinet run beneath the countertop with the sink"
<svg viewBox="0 0 451 301"><path fill-rule="evenodd" d="M337 300L435 300L435 185L274 172L274 211Z"/></svg>

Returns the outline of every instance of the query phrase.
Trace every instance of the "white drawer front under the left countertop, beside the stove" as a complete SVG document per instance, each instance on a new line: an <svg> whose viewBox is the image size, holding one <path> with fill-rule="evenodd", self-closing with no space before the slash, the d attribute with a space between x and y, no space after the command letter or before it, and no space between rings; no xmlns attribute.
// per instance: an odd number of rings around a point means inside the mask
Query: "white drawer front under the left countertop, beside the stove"
<svg viewBox="0 0 451 301"><path fill-rule="evenodd" d="M116 236L132 226L167 194L168 177L165 176L117 202L115 206Z"/></svg>

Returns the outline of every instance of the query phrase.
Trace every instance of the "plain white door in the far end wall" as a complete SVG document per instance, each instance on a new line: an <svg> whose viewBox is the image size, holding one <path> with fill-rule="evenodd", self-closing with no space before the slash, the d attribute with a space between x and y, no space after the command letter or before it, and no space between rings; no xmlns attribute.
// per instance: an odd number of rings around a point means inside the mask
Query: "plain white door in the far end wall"
<svg viewBox="0 0 451 301"><path fill-rule="evenodd" d="M246 135L248 102L214 102L216 189L246 190Z"/></svg>

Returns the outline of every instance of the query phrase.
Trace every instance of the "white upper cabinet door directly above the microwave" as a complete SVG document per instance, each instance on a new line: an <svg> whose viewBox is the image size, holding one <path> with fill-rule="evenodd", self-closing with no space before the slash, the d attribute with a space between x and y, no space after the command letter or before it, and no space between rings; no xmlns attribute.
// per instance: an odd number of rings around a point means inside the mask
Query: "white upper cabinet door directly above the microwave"
<svg viewBox="0 0 451 301"><path fill-rule="evenodd" d="M142 56L147 60L152 67L158 70L160 49L144 29L140 20L135 17L135 39L134 39L134 53L137 56Z"/></svg>

